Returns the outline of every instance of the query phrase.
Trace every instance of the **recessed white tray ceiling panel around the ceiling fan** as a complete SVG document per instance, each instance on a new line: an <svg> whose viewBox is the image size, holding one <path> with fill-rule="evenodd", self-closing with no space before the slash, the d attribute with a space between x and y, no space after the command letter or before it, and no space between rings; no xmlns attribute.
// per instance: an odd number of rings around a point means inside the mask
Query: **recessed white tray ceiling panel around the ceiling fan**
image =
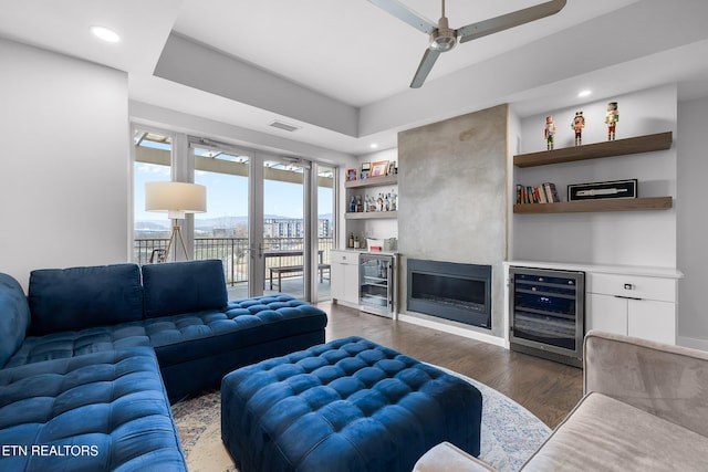
<svg viewBox="0 0 708 472"><path fill-rule="evenodd" d="M446 15L459 28L541 1L448 0ZM635 1L571 0L556 18L458 45L429 78ZM403 2L436 22L440 15L439 0ZM428 43L426 34L366 0L187 0L175 31L354 106L404 92Z"/></svg>

